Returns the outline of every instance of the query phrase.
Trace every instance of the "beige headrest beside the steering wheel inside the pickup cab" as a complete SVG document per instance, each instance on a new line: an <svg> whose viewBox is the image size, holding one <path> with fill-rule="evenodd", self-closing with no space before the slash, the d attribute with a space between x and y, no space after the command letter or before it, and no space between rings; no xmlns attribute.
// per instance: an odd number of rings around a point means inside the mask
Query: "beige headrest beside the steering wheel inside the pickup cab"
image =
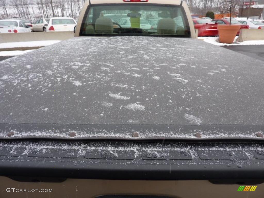
<svg viewBox="0 0 264 198"><path fill-rule="evenodd" d="M97 34L112 34L114 25L111 18L100 17L95 21L95 33Z"/></svg>

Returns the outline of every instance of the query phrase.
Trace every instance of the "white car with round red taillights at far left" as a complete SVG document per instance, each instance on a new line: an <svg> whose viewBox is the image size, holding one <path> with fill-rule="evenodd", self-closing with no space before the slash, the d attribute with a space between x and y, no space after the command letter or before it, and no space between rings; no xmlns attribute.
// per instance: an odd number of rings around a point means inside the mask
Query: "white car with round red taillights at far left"
<svg viewBox="0 0 264 198"><path fill-rule="evenodd" d="M30 28L21 20L0 20L0 33L31 32Z"/></svg>

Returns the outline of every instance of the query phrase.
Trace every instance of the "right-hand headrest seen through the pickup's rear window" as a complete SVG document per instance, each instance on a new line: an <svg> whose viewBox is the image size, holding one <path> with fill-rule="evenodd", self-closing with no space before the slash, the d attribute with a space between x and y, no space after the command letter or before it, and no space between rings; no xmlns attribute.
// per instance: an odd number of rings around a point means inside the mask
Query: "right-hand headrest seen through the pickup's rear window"
<svg viewBox="0 0 264 198"><path fill-rule="evenodd" d="M162 18L158 22L157 33L158 34L175 34L176 23L172 18Z"/></svg>

